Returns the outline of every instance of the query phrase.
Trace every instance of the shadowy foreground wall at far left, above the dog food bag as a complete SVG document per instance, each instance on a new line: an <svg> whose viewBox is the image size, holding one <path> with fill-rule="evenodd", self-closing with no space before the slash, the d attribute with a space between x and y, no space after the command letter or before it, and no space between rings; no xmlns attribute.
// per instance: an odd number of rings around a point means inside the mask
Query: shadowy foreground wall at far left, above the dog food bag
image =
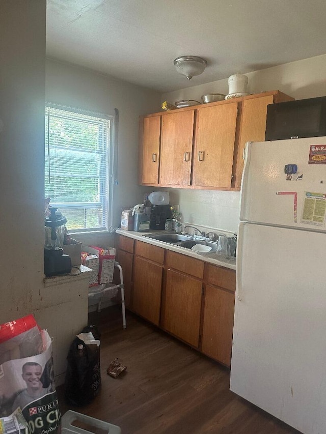
<svg viewBox="0 0 326 434"><path fill-rule="evenodd" d="M41 304L45 22L45 0L1 2L0 324Z"/></svg>

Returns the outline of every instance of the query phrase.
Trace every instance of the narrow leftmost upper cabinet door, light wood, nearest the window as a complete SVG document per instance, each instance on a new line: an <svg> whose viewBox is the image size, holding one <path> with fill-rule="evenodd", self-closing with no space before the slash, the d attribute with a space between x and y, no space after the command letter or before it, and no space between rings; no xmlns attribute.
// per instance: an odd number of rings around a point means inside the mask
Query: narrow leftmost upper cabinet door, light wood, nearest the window
<svg viewBox="0 0 326 434"><path fill-rule="evenodd" d="M144 118L142 183L158 184L161 117Z"/></svg>

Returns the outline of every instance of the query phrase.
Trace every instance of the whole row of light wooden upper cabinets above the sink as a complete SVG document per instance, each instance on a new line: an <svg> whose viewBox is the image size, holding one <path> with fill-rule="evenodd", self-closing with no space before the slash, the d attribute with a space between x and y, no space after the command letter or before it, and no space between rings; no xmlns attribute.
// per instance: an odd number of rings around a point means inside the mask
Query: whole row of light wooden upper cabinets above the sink
<svg viewBox="0 0 326 434"><path fill-rule="evenodd" d="M239 190L247 141L264 141L267 105L293 98L279 91L142 117L142 185Z"/></svg>

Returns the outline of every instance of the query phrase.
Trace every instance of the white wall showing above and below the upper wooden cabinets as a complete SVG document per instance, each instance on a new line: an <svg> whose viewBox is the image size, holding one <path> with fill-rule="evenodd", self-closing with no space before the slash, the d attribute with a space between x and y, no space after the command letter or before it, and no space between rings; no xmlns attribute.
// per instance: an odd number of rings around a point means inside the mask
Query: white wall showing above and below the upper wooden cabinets
<svg viewBox="0 0 326 434"><path fill-rule="evenodd" d="M326 54L246 75L249 78L248 91L251 93L279 90L295 99L325 96ZM201 101L202 95L215 92L228 94L228 80L163 94L162 101ZM175 197L174 200L178 200L175 203L179 203L184 221L237 232L239 192L179 189L172 193L170 190L171 195Z"/></svg>

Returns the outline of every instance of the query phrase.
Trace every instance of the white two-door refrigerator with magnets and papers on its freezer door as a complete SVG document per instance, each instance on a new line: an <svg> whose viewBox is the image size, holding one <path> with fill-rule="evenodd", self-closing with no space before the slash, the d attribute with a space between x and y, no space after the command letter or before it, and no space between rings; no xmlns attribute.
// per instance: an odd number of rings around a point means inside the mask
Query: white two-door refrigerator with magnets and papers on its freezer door
<svg viewBox="0 0 326 434"><path fill-rule="evenodd" d="M326 137L249 142L230 389L326 433Z"/></svg>

